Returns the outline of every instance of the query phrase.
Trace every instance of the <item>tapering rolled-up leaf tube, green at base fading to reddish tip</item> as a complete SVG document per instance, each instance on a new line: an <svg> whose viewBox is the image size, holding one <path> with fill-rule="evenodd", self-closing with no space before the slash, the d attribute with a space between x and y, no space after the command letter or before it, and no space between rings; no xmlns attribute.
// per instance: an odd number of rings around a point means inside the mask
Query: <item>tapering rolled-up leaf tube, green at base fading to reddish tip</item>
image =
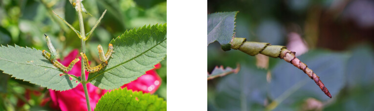
<svg viewBox="0 0 374 111"><path fill-rule="evenodd" d="M295 56L295 52L287 50L286 46L270 45L269 43L247 42L245 38L233 38L231 39L230 44L231 48L237 50L239 49L251 56L261 53L273 58L279 57L281 59L284 59L286 62L291 63L293 66L303 70L304 73L306 73L310 79L314 80L319 88L331 98L329 90L325 87L325 85L313 72L313 70L308 68L306 64L297 59Z"/></svg>

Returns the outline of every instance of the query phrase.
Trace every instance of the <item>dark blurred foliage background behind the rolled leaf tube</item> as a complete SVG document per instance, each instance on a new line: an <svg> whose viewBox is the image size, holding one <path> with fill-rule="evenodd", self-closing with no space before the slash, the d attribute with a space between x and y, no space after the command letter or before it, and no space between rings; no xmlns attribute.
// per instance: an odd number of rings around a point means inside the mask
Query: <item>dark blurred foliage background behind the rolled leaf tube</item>
<svg viewBox="0 0 374 111"><path fill-rule="evenodd" d="M363 19L374 18L374 1L208 0L208 14L231 11L239 11L236 37L288 45L288 34L300 35L309 50L298 58L320 77L332 98L284 60L269 58L268 68L261 69L258 58L223 51L216 42L208 46L208 72L238 63L241 70L208 81L208 111L374 110L374 19Z"/></svg>

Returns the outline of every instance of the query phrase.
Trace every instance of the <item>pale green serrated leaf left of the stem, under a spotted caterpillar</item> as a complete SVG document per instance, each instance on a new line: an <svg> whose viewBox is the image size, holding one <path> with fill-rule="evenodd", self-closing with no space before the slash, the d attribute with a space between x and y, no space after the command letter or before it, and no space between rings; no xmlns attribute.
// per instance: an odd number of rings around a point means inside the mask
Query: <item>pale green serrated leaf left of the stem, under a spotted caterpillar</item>
<svg viewBox="0 0 374 111"><path fill-rule="evenodd" d="M72 89L78 85L75 76L60 76L64 72L45 59L41 50L1 45L0 52L0 70L12 77L54 90Z"/></svg>

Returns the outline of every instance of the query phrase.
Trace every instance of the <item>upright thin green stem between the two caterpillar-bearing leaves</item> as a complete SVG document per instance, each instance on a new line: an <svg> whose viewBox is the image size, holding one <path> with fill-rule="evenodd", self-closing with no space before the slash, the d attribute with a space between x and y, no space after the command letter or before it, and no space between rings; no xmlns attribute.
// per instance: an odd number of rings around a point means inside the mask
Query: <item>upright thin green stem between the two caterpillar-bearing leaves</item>
<svg viewBox="0 0 374 111"><path fill-rule="evenodd" d="M81 0L77 0L78 5L78 18L79 18L79 28L81 29L81 51L83 53L86 53L86 34L85 34L85 27L83 24L83 17L82 17L82 8L81 8ZM82 86L85 91L86 96L86 103L87 103L87 110L91 111L91 106L89 104L89 96L88 96L88 90L87 90L87 81L86 81L86 73L85 73L85 65L83 62L81 62L81 79L82 79Z"/></svg>

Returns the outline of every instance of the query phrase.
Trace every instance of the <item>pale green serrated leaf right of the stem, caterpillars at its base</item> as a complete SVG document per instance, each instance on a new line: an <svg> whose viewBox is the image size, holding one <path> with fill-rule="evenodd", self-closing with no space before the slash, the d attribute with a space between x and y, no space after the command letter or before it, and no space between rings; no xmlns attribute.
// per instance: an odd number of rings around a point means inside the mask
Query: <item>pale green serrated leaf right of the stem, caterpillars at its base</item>
<svg viewBox="0 0 374 111"><path fill-rule="evenodd" d="M88 76L88 81L101 89L130 83L166 57L166 23L126 31L110 44L114 53L108 66Z"/></svg>

